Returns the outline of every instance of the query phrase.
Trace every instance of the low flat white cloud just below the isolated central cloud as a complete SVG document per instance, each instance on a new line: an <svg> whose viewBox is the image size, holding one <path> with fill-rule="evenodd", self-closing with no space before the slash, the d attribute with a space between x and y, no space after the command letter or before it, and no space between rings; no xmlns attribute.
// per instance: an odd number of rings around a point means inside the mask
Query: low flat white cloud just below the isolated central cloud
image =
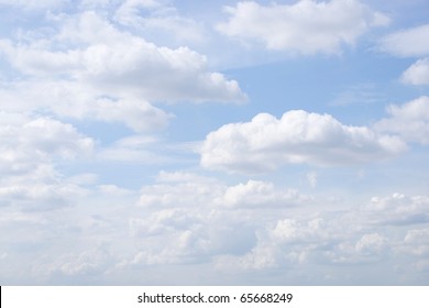
<svg viewBox="0 0 429 308"><path fill-rule="evenodd" d="M221 208L285 207L310 202L311 199L295 189L278 189L272 183L249 180L227 186L209 177L188 173L165 173L158 184L143 187L142 207L164 207L174 202L177 207L193 208L202 205Z"/></svg>

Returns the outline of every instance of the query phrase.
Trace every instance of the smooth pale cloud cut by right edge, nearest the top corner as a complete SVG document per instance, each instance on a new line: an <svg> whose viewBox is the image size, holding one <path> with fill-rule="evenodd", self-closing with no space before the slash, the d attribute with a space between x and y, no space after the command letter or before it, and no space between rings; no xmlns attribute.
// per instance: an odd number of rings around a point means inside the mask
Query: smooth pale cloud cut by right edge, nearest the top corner
<svg viewBox="0 0 429 308"><path fill-rule="evenodd" d="M429 55L429 24L398 31L383 37L380 50L400 57Z"/></svg>

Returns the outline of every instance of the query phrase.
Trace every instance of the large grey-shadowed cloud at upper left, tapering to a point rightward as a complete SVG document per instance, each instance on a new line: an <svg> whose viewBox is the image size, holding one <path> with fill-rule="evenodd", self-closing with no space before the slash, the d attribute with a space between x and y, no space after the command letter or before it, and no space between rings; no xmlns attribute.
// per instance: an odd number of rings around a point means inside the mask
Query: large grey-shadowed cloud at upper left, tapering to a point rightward
<svg viewBox="0 0 429 308"><path fill-rule="evenodd" d="M54 46L58 43L68 44L68 48L56 51ZM119 31L92 12L70 18L47 44L3 40L0 51L24 74L65 75L91 85L100 96L133 94L146 100L169 101L244 99L235 80L209 72L205 56L187 47L158 47Z"/></svg>

